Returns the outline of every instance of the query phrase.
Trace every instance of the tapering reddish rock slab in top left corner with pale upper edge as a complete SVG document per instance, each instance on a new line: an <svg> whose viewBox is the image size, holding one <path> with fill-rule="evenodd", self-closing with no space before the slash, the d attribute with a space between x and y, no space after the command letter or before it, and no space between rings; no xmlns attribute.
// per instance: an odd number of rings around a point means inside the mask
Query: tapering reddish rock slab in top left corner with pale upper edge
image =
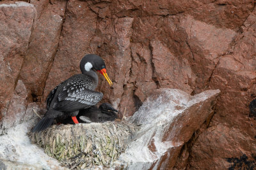
<svg viewBox="0 0 256 170"><path fill-rule="evenodd" d="M28 48L35 7L24 2L0 3L0 110L6 111Z"/></svg>

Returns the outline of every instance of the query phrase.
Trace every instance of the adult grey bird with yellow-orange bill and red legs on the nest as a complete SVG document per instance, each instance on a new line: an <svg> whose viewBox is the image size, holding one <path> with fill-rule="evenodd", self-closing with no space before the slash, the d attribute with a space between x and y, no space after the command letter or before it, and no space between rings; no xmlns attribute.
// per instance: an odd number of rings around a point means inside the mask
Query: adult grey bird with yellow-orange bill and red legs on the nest
<svg viewBox="0 0 256 170"><path fill-rule="evenodd" d="M98 76L96 71L113 85L106 71L106 64L99 55L88 54L80 62L81 74L75 74L56 86L47 96L47 111L44 117L35 125L32 132L44 131L55 118L70 117L78 124L79 110L90 108L99 103L103 94L96 92Z"/></svg>

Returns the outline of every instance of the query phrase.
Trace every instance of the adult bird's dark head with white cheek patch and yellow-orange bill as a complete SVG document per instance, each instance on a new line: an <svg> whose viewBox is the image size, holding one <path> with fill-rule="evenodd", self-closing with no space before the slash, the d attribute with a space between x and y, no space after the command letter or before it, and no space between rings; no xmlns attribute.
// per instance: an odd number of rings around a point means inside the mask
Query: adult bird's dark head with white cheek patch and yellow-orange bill
<svg viewBox="0 0 256 170"><path fill-rule="evenodd" d="M106 64L104 60L102 60L102 58L99 57L99 55L95 55L95 54L85 55L80 62L80 69L83 74L85 74L87 71L90 71L91 69L93 71L99 71L106 78L109 85L113 85L112 81L108 77Z"/></svg>

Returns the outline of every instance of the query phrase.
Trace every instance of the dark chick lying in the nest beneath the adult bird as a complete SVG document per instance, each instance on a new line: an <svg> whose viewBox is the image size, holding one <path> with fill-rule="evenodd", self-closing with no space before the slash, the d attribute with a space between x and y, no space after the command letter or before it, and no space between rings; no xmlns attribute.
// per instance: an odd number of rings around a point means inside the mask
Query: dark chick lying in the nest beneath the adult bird
<svg viewBox="0 0 256 170"><path fill-rule="evenodd" d="M116 118L118 118L118 113L113 106L109 103L102 103L100 104L99 108L97 108L96 105L79 110L79 113L77 115L77 120L81 123L87 123L90 124L92 122L107 122L107 121L113 121ZM72 119L70 117L60 117L56 119L56 122L58 124L74 124Z"/></svg>

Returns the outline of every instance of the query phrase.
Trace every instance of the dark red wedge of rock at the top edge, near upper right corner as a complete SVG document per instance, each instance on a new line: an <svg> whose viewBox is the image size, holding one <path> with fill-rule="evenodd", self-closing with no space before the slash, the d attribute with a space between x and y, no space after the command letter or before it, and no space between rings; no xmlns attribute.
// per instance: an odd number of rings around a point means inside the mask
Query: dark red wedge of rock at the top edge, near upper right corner
<svg viewBox="0 0 256 170"><path fill-rule="evenodd" d="M253 10L253 1L220 0L186 11L196 20L207 24L238 30Z"/></svg>

